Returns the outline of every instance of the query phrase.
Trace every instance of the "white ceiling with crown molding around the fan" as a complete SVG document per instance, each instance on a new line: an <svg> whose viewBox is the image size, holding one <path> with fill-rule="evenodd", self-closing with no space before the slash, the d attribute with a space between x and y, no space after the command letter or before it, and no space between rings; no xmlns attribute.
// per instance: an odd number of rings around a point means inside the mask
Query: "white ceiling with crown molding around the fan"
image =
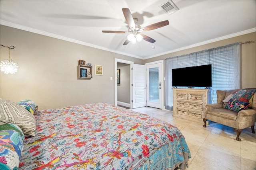
<svg viewBox="0 0 256 170"><path fill-rule="evenodd" d="M0 24L139 59L256 31L256 0L173 0L179 10L171 15L160 8L167 1L0 0ZM143 32L155 43L122 45L128 34L102 33L128 31L122 8L142 27L170 24Z"/></svg>

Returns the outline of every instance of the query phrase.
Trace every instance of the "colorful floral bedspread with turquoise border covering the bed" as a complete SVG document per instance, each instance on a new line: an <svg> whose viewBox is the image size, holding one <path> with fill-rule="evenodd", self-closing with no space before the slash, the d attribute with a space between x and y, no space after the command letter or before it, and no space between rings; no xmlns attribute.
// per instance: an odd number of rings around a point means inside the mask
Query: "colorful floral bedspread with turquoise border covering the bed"
<svg viewBox="0 0 256 170"><path fill-rule="evenodd" d="M190 151L167 122L105 103L34 113L36 136L25 139L19 170L173 169Z"/></svg>

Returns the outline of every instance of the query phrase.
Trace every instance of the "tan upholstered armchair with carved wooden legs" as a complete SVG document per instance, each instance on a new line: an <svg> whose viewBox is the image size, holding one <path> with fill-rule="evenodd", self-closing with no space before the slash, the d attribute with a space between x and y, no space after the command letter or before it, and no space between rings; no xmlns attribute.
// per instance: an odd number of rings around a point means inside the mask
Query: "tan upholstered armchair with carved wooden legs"
<svg viewBox="0 0 256 170"><path fill-rule="evenodd" d="M251 127L252 133L254 131L254 124L256 121L256 92L252 98L252 107L249 109L240 110L237 112L231 111L224 108L222 101L226 99L230 94L234 94L239 89L236 90L217 90L217 103L207 104L206 112L204 113L204 125L206 127L206 121L214 121L222 125L226 125L234 128L236 131L236 140L241 141L239 135L242 133L242 129Z"/></svg>

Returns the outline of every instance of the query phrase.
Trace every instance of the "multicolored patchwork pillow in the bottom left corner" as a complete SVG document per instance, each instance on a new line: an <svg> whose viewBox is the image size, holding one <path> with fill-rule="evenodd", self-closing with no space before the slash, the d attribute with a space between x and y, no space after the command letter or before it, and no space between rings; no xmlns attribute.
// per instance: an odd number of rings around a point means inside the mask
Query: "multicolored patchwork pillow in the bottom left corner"
<svg viewBox="0 0 256 170"><path fill-rule="evenodd" d="M17 125L0 125L0 170L18 170L24 134Z"/></svg>

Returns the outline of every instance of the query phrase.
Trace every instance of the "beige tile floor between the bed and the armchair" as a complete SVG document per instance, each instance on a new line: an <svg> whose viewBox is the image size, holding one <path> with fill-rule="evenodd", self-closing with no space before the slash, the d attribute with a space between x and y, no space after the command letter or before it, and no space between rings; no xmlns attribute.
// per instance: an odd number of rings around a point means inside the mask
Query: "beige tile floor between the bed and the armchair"
<svg viewBox="0 0 256 170"><path fill-rule="evenodd" d="M173 117L171 111L153 107L132 109L152 117L158 117L178 127L191 152L187 170L256 170L256 133L251 128L240 134L227 126L211 122L202 123ZM255 128L255 127L254 127Z"/></svg>

